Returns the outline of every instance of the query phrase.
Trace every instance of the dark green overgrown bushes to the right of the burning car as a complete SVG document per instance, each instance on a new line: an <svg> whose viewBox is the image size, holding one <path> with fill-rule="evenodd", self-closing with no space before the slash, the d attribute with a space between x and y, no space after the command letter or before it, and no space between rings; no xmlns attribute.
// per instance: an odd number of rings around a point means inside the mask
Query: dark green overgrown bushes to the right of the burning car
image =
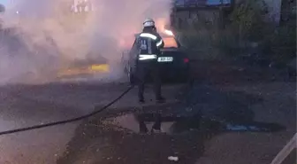
<svg viewBox="0 0 297 164"><path fill-rule="evenodd" d="M202 59L237 58L259 43L257 55L286 63L297 57L297 28L276 27L267 20L267 5L263 0L245 0L236 4L224 29L205 20L193 20L192 25L179 31L180 42Z"/></svg>

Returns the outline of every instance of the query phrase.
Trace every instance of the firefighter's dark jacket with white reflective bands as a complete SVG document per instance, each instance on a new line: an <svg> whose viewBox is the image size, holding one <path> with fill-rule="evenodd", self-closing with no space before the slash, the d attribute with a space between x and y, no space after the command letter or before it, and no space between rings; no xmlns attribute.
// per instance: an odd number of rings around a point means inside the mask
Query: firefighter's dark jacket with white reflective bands
<svg viewBox="0 0 297 164"><path fill-rule="evenodd" d="M155 32L142 32L136 38L137 60L138 61L156 61L160 54L160 49L164 47L162 37Z"/></svg>

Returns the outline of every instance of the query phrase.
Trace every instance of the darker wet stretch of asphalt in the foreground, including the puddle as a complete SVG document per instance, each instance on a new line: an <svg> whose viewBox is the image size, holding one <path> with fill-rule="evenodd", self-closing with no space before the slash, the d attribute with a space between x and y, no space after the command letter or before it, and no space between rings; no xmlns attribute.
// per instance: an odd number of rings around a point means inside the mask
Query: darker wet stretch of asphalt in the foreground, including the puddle
<svg viewBox="0 0 297 164"><path fill-rule="evenodd" d="M163 111L162 134L141 133L135 111L98 116L80 125L57 163L172 163L169 156L178 163L270 163L297 130L295 86L197 84L187 98L191 110L179 104L142 108L148 129L155 121L150 112Z"/></svg>

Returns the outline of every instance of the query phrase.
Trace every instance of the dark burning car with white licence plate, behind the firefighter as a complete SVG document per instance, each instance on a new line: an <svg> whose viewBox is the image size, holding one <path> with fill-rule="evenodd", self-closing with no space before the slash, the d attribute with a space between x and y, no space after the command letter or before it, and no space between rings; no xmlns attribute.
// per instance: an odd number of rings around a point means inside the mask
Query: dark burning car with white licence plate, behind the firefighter
<svg viewBox="0 0 297 164"><path fill-rule="evenodd" d="M182 50L179 41L170 30L165 29L160 35L164 40L164 48L161 50L157 61L160 65L162 79L166 82L188 82L190 79L190 61L187 53ZM134 35L134 37L137 37L137 35ZM137 55L135 48L135 43L133 43L130 50L122 53L121 62L130 83L137 80L134 67L134 57ZM148 81L150 80L151 78L148 79Z"/></svg>

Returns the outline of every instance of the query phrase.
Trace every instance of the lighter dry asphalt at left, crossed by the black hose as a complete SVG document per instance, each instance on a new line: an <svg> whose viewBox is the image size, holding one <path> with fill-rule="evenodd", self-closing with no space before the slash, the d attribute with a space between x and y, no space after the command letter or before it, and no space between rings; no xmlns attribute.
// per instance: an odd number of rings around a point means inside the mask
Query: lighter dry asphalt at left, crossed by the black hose
<svg viewBox="0 0 297 164"><path fill-rule="evenodd" d="M62 121L93 112L96 107L110 103L128 87L126 82L103 82L95 79L2 86L0 130ZM164 88L164 95L173 100L171 95L175 95L173 92L177 90L179 86L167 86ZM135 93L136 90L132 90L109 110L137 106ZM152 90L148 89L148 100L153 99L152 95ZM80 123L81 121L77 121L0 137L0 163L56 163Z"/></svg>

